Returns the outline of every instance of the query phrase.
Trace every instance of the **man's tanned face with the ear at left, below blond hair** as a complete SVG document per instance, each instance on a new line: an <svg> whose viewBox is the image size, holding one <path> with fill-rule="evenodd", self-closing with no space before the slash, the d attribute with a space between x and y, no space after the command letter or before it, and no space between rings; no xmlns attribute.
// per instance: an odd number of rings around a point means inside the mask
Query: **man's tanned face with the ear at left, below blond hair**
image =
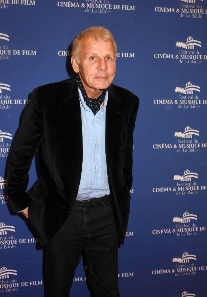
<svg viewBox="0 0 207 297"><path fill-rule="evenodd" d="M80 79L89 98L98 97L110 86L116 73L114 46L111 40L95 41L92 37L84 38L80 48L80 62L74 56L71 59L75 72Z"/></svg>

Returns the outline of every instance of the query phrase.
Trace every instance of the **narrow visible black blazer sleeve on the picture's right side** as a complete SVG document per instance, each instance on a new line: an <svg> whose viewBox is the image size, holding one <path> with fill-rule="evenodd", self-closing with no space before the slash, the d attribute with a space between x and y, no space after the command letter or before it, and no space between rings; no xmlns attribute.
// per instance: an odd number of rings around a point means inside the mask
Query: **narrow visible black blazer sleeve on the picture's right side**
<svg viewBox="0 0 207 297"><path fill-rule="evenodd" d="M138 108L139 108L139 98L136 97L136 104L132 110L130 120L129 120L128 129L127 129L127 142L126 142L126 146L125 146L125 150L124 150L124 163L123 163L124 178L125 178L125 182L127 184L129 191L132 187L133 132L135 129L135 121L137 118Z"/></svg>

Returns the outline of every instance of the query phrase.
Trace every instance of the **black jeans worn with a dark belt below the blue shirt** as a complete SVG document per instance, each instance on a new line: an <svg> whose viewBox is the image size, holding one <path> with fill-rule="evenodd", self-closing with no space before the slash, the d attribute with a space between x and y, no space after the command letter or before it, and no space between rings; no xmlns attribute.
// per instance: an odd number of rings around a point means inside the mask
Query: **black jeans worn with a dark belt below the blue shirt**
<svg viewBox="0 0 207 297"><path fill-rule="evenodd" d="M95 199L98 199L95 206L74 207L62 228L44 248L47 297L69 297L82 249L91 297L120 296L118 238L110 196Z"/></svg>

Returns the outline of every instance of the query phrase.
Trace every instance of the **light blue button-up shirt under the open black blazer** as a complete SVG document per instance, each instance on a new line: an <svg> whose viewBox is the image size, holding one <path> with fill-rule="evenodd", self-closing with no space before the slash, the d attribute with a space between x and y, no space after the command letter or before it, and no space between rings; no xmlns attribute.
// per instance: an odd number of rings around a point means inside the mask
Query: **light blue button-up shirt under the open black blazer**
<svg viewBox="0 0 207 297"><path fill-rule="evenodd" d="M109 183L106 167L106 105L108 91L103 107L94 116L86 105L78 88L83 131L83 166L77 200L88 200L109 195Z"/></svg>

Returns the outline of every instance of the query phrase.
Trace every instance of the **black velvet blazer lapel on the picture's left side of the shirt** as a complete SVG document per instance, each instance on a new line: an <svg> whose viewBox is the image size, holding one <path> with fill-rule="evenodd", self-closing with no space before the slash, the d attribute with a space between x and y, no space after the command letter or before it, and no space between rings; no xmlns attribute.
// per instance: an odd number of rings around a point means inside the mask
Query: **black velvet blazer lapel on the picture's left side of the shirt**
<svg viewBox="0 0 207 297"><path fill-rule="evenodd" d="M83 162L83 136L82 120L80 111L80 100L75 80L70 80L68 87L62 95L63 103L59 105L59 110L67 131L69 140L76 154L79 168Z"/></svg>

